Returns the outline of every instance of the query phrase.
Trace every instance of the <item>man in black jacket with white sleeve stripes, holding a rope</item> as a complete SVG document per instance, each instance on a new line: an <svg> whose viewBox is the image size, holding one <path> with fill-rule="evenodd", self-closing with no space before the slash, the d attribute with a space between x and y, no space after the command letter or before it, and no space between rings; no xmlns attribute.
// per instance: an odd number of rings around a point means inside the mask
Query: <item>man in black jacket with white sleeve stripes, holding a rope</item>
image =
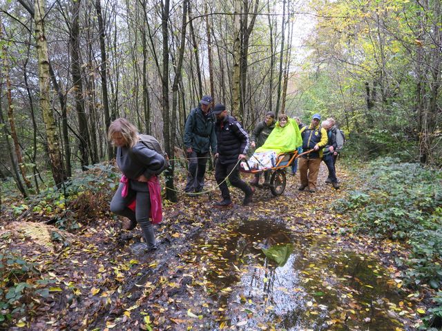
<svg viewBox="0 0 442 331"><path fill-rule="evenodd" d="M226 107L218 103L213 108L216 117L215 131L218 145L216 146L215 179L220 186L222 201L216 207L227 207L232 204L226 179L245 193L243 205L251 203L253 189L240 179L239 160L246 159L249 149L249 134L242 128L235 117L227 114Z"/></svg>

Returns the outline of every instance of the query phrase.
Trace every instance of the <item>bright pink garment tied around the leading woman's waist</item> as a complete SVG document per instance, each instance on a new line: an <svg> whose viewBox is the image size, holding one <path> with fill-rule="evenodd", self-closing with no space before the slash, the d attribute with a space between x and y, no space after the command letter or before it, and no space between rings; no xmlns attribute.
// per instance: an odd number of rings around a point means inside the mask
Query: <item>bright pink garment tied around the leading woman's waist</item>
<svg viewBox="0 0 442 331"><path fill-rule="evenodd" d="M127 197L128 178L123 175L122 179L120 179L119 181L121 183L124 183L122 197ZM149 217L151 217L151 223L157 224L160 223L163 219L160 179L158 179L157 176L153 175L151 178L148 179L147 185L149 187L149 194L151 196L151 212L149 214ZM135 212L136 203L137 201L133 199L133 201L128 204L127 208Z"/></svg>

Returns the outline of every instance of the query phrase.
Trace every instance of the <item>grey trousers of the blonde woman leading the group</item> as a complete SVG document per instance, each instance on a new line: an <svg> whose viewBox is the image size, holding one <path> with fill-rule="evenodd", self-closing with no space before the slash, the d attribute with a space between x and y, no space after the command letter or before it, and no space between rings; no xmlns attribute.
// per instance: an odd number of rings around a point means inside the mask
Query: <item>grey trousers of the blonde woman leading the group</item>
<svg viewBox="0 0 442 331"><path fill-rule="evenodd" d="M124 184L119 183L118 190L111 201L111 212L127 217L131 221L137 221L142 228L144 241L146 241L148 248L153 248L155 247L155 234L153 233L151 221L149 221L151 195L148 191L148 185L141 181L129 181L128 185L130 185L128 194L126 197L122 197ZM137 199L135 212L127 208L134 197Z"/></svg>

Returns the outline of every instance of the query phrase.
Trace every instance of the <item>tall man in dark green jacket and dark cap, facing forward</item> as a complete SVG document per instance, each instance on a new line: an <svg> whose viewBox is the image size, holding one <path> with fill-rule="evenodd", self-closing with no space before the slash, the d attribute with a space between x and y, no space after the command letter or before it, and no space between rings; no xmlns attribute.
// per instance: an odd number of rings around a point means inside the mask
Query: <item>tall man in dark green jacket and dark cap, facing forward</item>
<svg viewBox="0 0 442 331"><path fill-rule="evenodd" d="M189 159L189 171L184 192L189 195L202 191L210 148L213 153L216 150L214 118L210 112L212 102L211 96L204 95L200 106L191 110L184 128L184 146Z"/></svg>

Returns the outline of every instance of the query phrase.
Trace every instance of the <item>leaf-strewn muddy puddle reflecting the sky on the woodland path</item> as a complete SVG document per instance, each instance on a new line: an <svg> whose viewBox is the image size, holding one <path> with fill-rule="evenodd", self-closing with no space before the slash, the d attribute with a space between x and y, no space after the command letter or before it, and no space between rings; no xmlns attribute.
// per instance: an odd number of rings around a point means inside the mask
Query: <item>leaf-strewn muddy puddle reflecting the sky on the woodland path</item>
<svg viewBox="0 0 442 331"><path fill-rule="evenodd" d="M204 330L412 330L386 271L336 238L260 219L204 234L193 250L211 299Z"/></svg>

